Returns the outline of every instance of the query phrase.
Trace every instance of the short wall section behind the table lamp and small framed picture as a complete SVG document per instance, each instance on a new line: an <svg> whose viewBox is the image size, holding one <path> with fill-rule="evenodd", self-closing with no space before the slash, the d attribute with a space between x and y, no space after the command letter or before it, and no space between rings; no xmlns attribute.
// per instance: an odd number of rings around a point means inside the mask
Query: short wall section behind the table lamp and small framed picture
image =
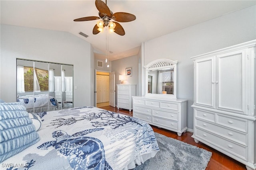
<svg viewBox="0 0 256 170"><path fill-rule="evenodd" d="M132 76L125 76L124 84L136 84L136 96L138 96L138 56L125 57L112 61L112 72L116 75L116 84L121 84L119 75L125 75L125 69L132 68ZM117 104L117 86L116 86L116 104Z"/></svg>

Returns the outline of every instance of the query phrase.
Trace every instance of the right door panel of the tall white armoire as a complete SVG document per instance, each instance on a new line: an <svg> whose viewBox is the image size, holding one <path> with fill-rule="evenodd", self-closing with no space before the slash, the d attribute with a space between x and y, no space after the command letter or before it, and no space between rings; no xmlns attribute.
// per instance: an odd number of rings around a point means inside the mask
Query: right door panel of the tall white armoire
<svg viewBox="0 0 256 170"><path fill-rule="evenodd" d="M245 51L236 51L217 56L217 107L244 113Z"/></svg>

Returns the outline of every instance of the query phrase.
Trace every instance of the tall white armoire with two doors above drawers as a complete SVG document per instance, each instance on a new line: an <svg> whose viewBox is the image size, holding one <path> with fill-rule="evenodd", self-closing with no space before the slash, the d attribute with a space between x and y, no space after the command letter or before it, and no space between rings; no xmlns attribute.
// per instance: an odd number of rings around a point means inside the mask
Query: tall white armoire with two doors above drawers
<svg viewBox="0 0 256 170"><path fill-rule="evenodd" d="M256 169L256 40L191 57L194 134L199 141Z"/></svg>

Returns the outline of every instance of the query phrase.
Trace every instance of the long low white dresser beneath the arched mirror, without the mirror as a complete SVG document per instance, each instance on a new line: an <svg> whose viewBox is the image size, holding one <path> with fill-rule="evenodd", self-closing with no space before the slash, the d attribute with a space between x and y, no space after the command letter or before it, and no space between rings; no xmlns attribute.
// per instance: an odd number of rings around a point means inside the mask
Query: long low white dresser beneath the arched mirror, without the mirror
<svg viewBox="0 0 256 170"><path fill-rule="evenodd" d="M187 129L187 100L133 96L133 117L177 132L181 136Z"/></svg>

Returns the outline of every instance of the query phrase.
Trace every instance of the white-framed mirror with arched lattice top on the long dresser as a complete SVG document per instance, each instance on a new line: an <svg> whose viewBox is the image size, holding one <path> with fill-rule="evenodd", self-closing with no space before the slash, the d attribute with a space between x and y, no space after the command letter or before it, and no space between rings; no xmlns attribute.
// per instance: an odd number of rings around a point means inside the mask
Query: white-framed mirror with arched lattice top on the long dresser
<svg viewBox="0 0 256 170"><path fill-rule="evenodd" d="M177 98L177 61L158 59L146 68L146 96Z"/></svg>

